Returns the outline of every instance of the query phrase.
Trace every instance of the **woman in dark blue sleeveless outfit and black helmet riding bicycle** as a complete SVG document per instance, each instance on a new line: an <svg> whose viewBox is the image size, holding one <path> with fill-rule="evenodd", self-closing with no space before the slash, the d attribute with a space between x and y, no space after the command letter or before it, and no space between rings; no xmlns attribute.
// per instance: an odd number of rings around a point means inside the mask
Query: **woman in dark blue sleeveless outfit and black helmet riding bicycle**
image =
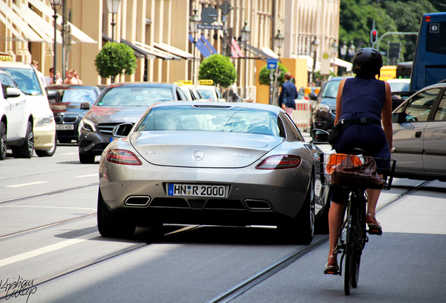
<svg viewBox="0 0 446 303"><path fill-rule="evenodd" d="M387 82L376 79L382 67L381 54L374 48L361 48L353 56L353 73L355 78L343 79L339 83L336 98L336 118L338 121L350 121L339 140L333 144L337 153L351 154L353 148L363 149L368 156L390 159L392 148L392 96ZM381 127L381 119L382 126ZM385 165L385 164L384 164ZM384 168L377 161L377 168ZM381 226L377 222L375 208L380 189L367 189L367 216L365 222L370 234L381 234ZM330 251L328 253L325 272L337 274L337 253L334 253L339 240L339 229L344 217L344 203L349 192L343 187L331 186L332 204L328 213L330 230Z"/></svg>

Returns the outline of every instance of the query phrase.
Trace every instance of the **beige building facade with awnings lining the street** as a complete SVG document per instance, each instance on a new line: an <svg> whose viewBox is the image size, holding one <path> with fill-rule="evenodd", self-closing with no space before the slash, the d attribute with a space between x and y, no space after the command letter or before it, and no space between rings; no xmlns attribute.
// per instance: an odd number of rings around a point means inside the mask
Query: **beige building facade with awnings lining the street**
<svg viewBox="0 0 446 303"><path fill-rule="evenodd" d="M299 56L316 56L319 60L321 53L332 53L339 41L340 0L118 2L117 12L111 13L107 0L63 1L58 9L54 52L50 0L0 0L0 52L14 55L17 61L39 61L45 75L56 53L56 69L76 69L86 84L110 83L100 78L94 62L102 45L112 40L132 46L137 55L135 74L116 77L115 81L197 79L201 60L210 53L225 53L238 71L235 84L239 94L243 95L246 88L249 95L256 97L255 83L261 66L257 60L299 60ZM191 33L189 18L195 10L203 24L215 29ZM247 46L240 41L245 20L250 28ZM64 21L71 25L62 27ZM274 39L279 30L284 36L281 48ZM316 46L316 51L311 46Z"/></svg>

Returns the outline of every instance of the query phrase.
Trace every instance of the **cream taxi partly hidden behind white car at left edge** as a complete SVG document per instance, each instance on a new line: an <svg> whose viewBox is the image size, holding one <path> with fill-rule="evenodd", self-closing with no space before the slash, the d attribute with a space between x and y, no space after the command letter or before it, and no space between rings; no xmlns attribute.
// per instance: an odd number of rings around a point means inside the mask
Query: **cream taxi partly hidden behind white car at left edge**
<svg viewBox="0 0 446 303"><path fill-rule="evenodd" d="M37 156L53 156L58 146L53 112L35 67L27 62L0 60L0 70L8 73L14 79L31 107L34 149Z"/></svg>

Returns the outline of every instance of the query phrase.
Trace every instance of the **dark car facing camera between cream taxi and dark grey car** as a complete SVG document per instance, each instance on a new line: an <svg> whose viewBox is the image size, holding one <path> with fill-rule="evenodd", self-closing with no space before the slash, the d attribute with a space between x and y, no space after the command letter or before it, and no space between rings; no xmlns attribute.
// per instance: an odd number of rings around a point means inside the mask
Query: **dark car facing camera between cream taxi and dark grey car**
<svg viewBox="0 0 446 303"><path fill-rule="evenodd" d="M97 86L78 86L72 84L50 85L46 87L50 109L56 123L56 133L60 143L79 140L79 122L85 116L86 103L93 105L100 89Z"/></svg>

